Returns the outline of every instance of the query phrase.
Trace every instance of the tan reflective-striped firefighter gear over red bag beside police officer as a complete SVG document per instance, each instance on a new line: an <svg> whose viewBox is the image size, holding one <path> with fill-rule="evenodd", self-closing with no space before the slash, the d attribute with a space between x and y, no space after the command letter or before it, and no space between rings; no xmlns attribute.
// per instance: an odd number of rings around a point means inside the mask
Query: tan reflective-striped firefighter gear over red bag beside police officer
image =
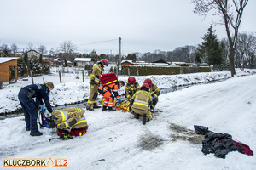
<svg viewBox="0 0 256 170"><path fill-rule="evenodd" d="M55 118L58 135L63 140L73 139L72 136L82 136L87 132L87 121L84 117L84 109L69 107L63 110L55 110L52 115Z"/></svg>

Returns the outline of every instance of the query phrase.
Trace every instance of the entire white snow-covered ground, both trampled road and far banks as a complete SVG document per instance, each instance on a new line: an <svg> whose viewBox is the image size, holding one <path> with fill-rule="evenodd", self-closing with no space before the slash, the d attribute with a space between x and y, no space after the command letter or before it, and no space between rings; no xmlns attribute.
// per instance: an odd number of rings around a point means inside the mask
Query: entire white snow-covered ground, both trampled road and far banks
<svg viewBox="0 0 256 170"><path fill-rule="evenodd" d="M6 118L0 121L0 158L67 158L68 167L57 169L75 170L253 170L256 167L255 156L237 151L230 152L225 159L212 154L205 156L201 152L201 140L194 133L194 125L209 127L216 133L230 133L234 140L249 145L255 152L256 75L241 77L250 74L250 70L237 71L239 77L223 82L200 84L160 94L156 109L163 112L155 113L153 120L145 126L142 118L134 119L129 112L102 112L101 109L85 111L88 132L67 141L48 142L57 135L47 128L41 130L43 136L32 137L26 132L23 116ZM137 82L142 84L148 77L136 77ZM151 78L159 88L169 88L225 77L230 77L230 71ZM88 77L82 82L81 78L64 76L61 84L57 75L42 79L34 77L35 82L55 83L55 90L50 96L52 103L72 103L83 100L89 94ZM119 80L127 82L127 77L119 77ZM9 108L12 111L19 107L15 101L16 94L26 84L29 82L19 81L0 90L1 110ZM10 169L3 167L3 161L0 167Z"/></svg>

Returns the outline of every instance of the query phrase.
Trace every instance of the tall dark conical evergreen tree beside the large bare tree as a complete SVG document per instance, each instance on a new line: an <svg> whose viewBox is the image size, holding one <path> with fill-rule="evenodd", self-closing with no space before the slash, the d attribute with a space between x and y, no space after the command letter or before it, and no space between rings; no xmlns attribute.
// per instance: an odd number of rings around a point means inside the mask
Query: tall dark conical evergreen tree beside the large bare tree
<svg viewBox="0 0 256 170"><path fill-rule="evenodd" d="M208 65L221 65L223 62L223 48L221 48L220 42L218 42L215 30L212 30L212 26L208 28L207 33L202 37L203 42L197 49L197 57L201 56ZM205 56L205 59L204 59Z"/></svg>

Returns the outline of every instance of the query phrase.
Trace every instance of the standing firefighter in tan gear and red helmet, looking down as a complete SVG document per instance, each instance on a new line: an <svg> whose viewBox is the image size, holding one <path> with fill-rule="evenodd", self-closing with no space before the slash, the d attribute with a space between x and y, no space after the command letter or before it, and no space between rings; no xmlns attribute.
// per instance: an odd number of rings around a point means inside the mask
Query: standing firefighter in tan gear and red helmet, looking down
<svg viewBox="0 0 256 170"><path fill-rule="evenodd" d="M97 105L98 88L100 86L100 77L102 76L102 70L104 65L108 66L108 60L102 59L97 65L92 68L92 73L90 74L90 95L86 105L86 109L93 111L94 108L100 108Z"/></svg>

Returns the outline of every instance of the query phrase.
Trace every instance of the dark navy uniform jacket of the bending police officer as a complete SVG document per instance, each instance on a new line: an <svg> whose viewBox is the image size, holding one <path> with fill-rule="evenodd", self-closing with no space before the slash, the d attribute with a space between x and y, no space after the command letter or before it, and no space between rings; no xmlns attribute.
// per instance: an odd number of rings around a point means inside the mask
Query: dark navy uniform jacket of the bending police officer
<svg viewBox="0 0 256 170"><path fill-rule="evenodd" d="M32 98L36 98L37 105L46 105L47 110L51 113L53 110L49 103L49 89L46 87L45 84L31 84L22 89L29 91L29 88L35 90L35 95ZM44 103L42 101L44 99Z"/></svg>

